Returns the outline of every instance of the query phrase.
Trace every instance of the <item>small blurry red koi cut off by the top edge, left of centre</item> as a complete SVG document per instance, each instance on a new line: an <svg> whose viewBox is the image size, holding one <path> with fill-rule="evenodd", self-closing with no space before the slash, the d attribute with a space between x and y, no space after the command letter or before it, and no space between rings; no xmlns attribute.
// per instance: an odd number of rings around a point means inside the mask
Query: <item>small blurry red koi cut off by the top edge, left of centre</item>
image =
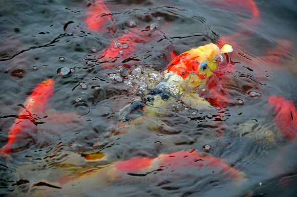
<svg viewBox="0 0 297 197"><path fill-rule="evenodd" d="M84 19L88 28L94 32L102 31L102 28L111 21L113 24L112 32L115 30L114 17L108 7L101 1L97 0L90 6L87 12L88 17Z"/></svg>

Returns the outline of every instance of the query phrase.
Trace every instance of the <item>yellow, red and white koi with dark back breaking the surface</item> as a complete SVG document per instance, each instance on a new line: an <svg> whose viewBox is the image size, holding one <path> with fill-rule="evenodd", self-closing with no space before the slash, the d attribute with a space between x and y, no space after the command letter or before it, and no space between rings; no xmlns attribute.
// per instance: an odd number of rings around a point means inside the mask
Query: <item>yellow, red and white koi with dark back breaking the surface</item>
<svg viewBox="0 0 297 197"><path fill-rule="evenodd" d="M174 128L159 119L167 116L172 105L180 101L196 110L210 107L210 104L195 92L200 85L205 85L213 71L218 68L218 59L222 58L222 53L230 52L232 47L228 44L219 49L214 43L209 43L175 57L164 71L163 80L157 82L155 87L144 95L145 104L141 100L135 100L120 111L120 134L139 126L145 126L154 132L174 132ZM138 118L131 118L135 115Z"/></svg>

